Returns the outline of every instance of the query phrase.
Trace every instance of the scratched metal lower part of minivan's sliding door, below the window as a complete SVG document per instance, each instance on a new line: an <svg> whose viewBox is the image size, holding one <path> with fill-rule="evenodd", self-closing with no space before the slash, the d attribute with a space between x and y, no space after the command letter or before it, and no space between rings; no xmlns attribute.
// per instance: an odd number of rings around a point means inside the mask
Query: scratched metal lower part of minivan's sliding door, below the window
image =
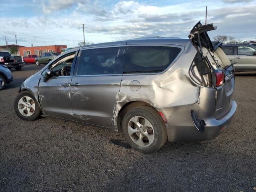
<svg viewBox="0 0 256 192"><path fill-rule="evenodd" d="M110 127L120 90L122 74L111 76L74 76L80 86L70 88L75 121Z"/></svg>

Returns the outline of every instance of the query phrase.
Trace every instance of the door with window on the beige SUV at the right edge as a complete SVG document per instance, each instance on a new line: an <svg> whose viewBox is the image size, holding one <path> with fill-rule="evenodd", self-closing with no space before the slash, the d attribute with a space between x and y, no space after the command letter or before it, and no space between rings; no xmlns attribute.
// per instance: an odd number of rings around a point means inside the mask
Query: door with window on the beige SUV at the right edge
<svg viewBox="0 0 256 192"><path fill-rule="evenodd" d="M256 56L253 52L255 48L251 46L237 46L237 55L235 55L235 69L242 72L256 71Z"/></svg>

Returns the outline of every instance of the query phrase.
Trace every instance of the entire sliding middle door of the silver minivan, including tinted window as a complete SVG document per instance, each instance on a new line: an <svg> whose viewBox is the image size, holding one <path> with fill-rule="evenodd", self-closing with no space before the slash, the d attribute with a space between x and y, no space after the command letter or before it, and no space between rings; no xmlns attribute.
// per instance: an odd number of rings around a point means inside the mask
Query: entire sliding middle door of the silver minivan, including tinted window
<svg viewBox="0 0 256 192"><path fill-rule="evenodd" d="M70 96L76 121L110 127L116 109L125 46L82 50Z"/></svg>

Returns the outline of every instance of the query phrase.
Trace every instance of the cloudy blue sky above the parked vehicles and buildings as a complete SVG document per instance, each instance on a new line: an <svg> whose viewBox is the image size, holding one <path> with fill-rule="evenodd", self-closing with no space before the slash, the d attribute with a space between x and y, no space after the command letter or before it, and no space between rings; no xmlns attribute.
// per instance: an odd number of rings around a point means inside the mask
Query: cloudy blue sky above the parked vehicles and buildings
<svg viewBox="0 0 256 192"><path fill-rule="evenodd" d="M256 0L1 0L0 44L23 46L99 43L140 36L187 38L194 24L205 20L220 35L256 38Z"/></svg>

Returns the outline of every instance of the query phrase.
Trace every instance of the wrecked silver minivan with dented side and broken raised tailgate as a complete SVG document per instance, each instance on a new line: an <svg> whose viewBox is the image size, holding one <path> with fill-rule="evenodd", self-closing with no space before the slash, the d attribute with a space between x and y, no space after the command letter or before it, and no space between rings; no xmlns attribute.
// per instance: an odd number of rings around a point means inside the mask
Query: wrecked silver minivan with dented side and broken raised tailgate
<svg viewBox="0 0 256 192"><path fill-rule="evenodd" d="M210 140L231 122L234 68L198 22L189 39L138 38L61 54L26 79L23 120L53 116L122 132L143 153L166 140ZM64 123L64 122L63 122Z"/></svg>

